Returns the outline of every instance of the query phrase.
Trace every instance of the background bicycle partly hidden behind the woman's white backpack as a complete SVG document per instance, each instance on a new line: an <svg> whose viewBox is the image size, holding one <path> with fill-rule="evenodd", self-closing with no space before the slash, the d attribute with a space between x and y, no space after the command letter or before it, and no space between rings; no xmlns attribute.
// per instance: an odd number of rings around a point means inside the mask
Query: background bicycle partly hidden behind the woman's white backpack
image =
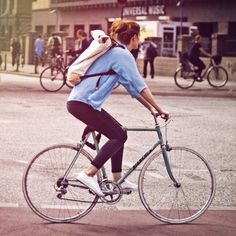
<svg viewBox="0 0 236 236"><path fill-rule="evenodd" d="M57 92L64 85L73 88L67 80L67 71L69 66L64 65L64 59L61 55L57 55L51 60L51 63L40 74L40 85L48 92Z"/></svg>

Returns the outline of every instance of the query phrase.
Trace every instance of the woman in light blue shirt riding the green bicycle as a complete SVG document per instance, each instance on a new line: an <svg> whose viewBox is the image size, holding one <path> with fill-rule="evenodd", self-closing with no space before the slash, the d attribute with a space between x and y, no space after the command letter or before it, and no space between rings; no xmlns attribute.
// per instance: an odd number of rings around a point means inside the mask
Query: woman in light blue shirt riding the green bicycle
<svg viewBox="0 0 236 236"><path fill-rule="evenodd" d="M80 182L99 196L104 194L94 176L111 158L114 182L121 178L123 149L127 140L127 134L122 125L102 108L102 104L112 93L115 84L123 85L129 94L148 108L152 114L160 114L165 120L169 119L169 113L158 105L150 89L142 80L136 62L130 53L132 49L138 48L139 34L140 26L134 21L113 22L111 38L118 41L120 47L114 47L103 54L86 74L109 70L115 71L116 74L84 79L72 89L67 102L67 109L73 116L108 138L89 168L77 176ZM99 87L96 89L98 81ZM135 184L127 180L121 184L121 187L137 188Z"/></svg>

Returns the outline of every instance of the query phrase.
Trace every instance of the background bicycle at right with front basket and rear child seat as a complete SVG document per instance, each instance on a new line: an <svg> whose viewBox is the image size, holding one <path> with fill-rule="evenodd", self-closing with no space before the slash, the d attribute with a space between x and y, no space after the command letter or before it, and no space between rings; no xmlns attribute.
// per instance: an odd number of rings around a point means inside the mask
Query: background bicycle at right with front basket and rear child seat
<svg viewBox="0 0 236 236"><path fill-rule="evenodd" d="M180 66L174 74L175 84L181 89L191 88L194 83L198 82L198 73L194 66L189 62L185 53L179 52ZM228 81L227 70L220 65L222 58L213 56L206 67L200 79L206 77L208 83L214 88L224 87Z"/></svg>

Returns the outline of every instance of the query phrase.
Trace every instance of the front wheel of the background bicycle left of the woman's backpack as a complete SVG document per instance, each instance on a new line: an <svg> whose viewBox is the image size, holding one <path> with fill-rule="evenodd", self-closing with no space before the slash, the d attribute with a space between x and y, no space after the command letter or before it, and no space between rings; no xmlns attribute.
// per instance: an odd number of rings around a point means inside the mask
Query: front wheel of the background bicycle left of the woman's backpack
<svg viewBox="0 0 236 236"><path fill-rule="evenodd" d="M47 92L57 92L65 84L65 76L63 70L57 67L45 68L40 76L40 85Z"/></svg>

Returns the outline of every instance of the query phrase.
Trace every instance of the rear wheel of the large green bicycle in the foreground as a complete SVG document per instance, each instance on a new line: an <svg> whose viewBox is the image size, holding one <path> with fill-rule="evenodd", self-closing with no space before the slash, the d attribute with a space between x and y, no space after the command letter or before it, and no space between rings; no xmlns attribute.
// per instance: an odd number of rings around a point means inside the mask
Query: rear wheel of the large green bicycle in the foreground
<svg viewBox="0 0 236 236"><path fill-rule="evenodd" d="M67 192L59 198L55 187L62 185L61 177L77 154L79 157L66 178L69 183ZM78 151L74 145L54 145L39 152L29 163L22 181L25 200L33 212L50 222L72 222L87 215L97 203L98 196L76 181L76 175L87 168L91 160L88 152ZM100 171L98 179L101 180Z"/></svg>

